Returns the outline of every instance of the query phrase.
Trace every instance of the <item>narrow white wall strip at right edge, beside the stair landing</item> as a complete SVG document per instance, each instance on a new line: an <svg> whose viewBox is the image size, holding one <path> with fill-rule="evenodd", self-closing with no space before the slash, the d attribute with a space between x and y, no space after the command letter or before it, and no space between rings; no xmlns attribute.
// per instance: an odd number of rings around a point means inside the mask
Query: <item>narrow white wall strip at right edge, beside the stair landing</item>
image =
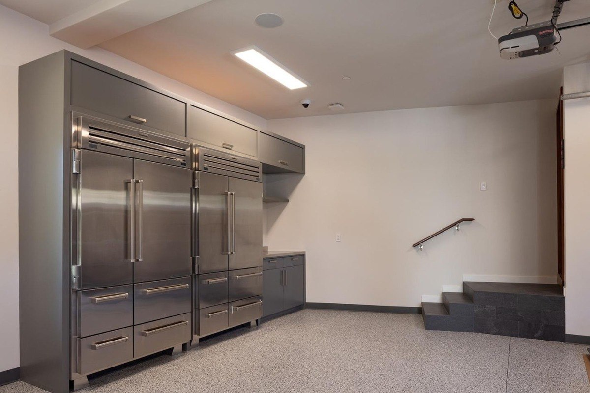
<svg viewBox="0 0 590 393"><path fill-rule="evenodd" d="M566 94L590 91L590 63L563 69ZM590 98L565 105L565 328L590 336Z"/></svg>

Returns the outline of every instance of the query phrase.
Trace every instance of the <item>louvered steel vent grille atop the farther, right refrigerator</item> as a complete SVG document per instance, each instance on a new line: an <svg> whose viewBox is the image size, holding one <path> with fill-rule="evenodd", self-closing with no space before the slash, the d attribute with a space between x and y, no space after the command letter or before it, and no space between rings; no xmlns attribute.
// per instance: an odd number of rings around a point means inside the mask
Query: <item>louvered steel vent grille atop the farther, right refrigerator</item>
<svg viewBox="0 0 590 393"><path fill-rule="evenodd" d="M242 158L202 147L195 148L198 171L260 181L262 166L253 159Z"/></svg>

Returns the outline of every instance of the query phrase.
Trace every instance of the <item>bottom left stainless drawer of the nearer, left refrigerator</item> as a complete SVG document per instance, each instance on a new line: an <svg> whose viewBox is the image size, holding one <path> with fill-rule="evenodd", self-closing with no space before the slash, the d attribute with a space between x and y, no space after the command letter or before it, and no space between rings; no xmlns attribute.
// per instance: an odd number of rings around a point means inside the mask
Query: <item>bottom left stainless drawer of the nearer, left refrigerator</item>
<svg viewBox="0 0 590 393"><path fill-rule="evenodd" d="M78 338L78 373L99 371L133 359L133 327Z"/></svg>

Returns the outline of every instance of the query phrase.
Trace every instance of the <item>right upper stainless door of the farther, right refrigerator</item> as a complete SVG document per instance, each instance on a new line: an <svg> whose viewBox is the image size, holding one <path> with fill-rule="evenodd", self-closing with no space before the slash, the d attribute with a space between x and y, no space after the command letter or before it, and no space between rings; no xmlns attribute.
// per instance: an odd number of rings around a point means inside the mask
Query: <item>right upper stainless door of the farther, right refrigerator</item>
<svg viewBox="0 0 590 393"><path fill-rule="evenodd" d="M230 178L230 270L262 266L262 183Z"/></svg>

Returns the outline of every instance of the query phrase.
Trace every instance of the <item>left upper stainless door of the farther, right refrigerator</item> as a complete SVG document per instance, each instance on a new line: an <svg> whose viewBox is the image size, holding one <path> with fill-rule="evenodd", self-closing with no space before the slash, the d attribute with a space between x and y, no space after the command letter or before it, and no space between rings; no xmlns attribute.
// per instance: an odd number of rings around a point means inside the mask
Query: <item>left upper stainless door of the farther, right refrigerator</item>
<svg viewBox="0 0 590 393"><path fill-rule="evenodd" d="M198 172L199 188L195 207L195 248L199 274L227 271L228 205L227 176Z"/></svg>

